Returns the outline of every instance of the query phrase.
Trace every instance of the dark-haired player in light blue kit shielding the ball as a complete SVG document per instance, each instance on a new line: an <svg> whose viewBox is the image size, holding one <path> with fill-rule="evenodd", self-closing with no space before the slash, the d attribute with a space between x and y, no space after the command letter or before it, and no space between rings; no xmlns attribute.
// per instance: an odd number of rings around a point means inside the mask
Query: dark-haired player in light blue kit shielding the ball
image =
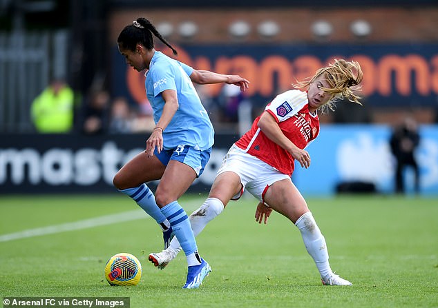
<svg viewBox="0 0 438 308"><path fill-rule="evenodd" d="M245 91L249 81L193 68L156 51L152 34L176 50L153 24L138 18L127 25L117 39L120 53L135 70L146 72L146 94L153 108L155 128L146 141L146 150L126 163L113 183L155 219L163 231L164 247L175 234L187 256L184 288L198 288L211 272L198 254L189 218L178 203L193 181L202 174L213 146L213 125L193 83L229 83ZM155 198L146 183L161 179Z"/></svg>

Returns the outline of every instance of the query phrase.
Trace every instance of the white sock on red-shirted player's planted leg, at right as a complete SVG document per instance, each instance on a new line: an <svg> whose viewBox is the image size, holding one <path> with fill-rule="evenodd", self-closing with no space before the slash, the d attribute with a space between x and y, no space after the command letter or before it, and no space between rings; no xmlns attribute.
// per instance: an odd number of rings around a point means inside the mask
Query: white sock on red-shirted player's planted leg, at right
<svg viewBox="0 0 438 308"><path fill-rule="evenodd" d="M314 259L321 277L331 274L332 269L330 268L330 263L328 261L329 256L325 238L323 234L321 234L318 225L316 225L312 213L307 212L303 214L298 220L296 220L295 225L300 230L305 248Z"/></svg>

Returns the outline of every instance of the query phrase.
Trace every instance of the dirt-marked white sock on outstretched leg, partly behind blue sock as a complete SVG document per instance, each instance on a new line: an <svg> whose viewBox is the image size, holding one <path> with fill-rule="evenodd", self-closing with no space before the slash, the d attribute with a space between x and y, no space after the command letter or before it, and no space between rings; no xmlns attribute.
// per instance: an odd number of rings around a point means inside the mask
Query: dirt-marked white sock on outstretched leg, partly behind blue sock
<svg viewBox="0 0 438 308"><path fill-rule="evenodd" d="M196 209L196 211L189 216L193 235L198 236L207 223L222 213L223 209L224 205L218 198L207 198L200 208ZM178 242L178 238L176 238L176 236L173 238L173 240L171 240L167 250L173 252L175 256L181 251L180 242Z"/></svg>

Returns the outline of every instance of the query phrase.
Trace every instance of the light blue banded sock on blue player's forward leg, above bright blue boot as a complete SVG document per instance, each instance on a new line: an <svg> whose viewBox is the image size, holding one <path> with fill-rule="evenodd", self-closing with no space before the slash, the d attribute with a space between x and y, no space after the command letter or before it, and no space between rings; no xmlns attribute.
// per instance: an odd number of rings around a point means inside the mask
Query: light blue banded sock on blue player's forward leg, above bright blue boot
<svg viewBox="0 0 438 308"><path fill-rule="evenodd" d="M167 220L169 220L169 223L171 223L173 232L175 232L175 236L178 238L182 250L184 250L184 254L189 256L195 253L195 251L198 251L189 217L181 205L178 204L178 201L173 201L165 205L162 207L161 212L166 216Z"/></svg>

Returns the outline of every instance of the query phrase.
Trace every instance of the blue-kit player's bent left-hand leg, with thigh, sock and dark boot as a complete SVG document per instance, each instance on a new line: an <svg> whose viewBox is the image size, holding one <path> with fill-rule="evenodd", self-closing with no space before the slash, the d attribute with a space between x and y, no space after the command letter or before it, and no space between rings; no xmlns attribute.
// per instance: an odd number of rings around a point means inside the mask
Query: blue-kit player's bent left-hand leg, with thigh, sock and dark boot
<svg viewBox="0 0 438 308"><path fill-rule="evenodd" d="M148 157L145 152L137 154L126 163L113 178L114 186L126 194L160 225L163 232L164 249L169 247L173 230L169 221L160 211L155 196L146 182L158 180L164 173L165 165L157 156Z"/></svg>

